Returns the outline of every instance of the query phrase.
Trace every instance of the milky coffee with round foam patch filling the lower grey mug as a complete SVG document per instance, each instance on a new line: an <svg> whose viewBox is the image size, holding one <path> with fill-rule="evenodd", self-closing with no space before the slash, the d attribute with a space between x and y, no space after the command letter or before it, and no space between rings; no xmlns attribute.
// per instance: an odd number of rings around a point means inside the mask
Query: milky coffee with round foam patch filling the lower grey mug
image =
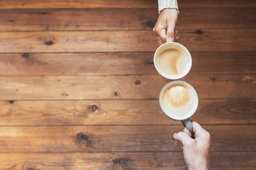
<svg viewBox="0 0 256 170"><path fill-rule="evenodd" d="M167 86L161 96L161 103L165 113L176 116L177 119L190 113L197 100L193 89L182 83Z"/></svg>

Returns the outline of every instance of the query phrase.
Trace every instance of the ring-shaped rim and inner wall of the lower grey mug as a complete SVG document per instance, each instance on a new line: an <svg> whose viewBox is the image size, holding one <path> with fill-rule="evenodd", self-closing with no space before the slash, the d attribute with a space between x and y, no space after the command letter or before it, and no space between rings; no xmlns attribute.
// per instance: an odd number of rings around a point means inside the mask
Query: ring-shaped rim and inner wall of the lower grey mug
<svg viewBox="0 0 256 170"><path fill-rule="evenodd" d="M191 87L191 89L195 92L196 94L196 106L193 107L193 109L191 111L189 111L187 114L186 114L186 117L183 117L183 118L175 118L175 117L172 117L170 114L166 113L164 111L164 108L163 106L161 106L161 94L163 93L164 89L166 89L167 86L169 86L169 84L174 84L176 82L181 82L181 83L184 83L184 84L187 84L188 86ZM188 84L186 81L181 81L181 80L176 80L176 81L171 81L169 82L168 84L166 84L162 89L161 89L161 92L160 92L160 95L159 95L159 105L161 107L161 110L164 112L165 115L167 115L169 118L173 119L173 120L186 120L188 118L190 118L194 113L196 113L196 110L198 108L198 102L199 102L199 99L198 99L198 94L196 92L196 89L193 88L193 86L191 86L191 84Z"/></svg>

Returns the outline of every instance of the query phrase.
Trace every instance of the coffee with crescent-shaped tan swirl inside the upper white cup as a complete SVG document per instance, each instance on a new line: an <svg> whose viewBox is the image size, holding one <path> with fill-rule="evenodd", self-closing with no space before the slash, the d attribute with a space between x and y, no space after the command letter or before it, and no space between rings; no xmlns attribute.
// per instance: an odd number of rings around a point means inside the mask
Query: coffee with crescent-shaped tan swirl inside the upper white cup
<svg viewBox="0 0 256 170"><path fill-rule="evenodd" d="M177 47L178 48L178 47ZM168 75L181 74L187 67L188 57L182 49L166 49L159 53L158 65Z"/></svg>

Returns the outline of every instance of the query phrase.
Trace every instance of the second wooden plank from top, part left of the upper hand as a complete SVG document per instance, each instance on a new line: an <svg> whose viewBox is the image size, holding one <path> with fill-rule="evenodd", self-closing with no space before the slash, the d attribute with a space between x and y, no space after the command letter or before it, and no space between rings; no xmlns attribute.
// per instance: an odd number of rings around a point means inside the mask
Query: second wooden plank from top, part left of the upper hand
<svg viewBox="0 0 256 170"><path fill-rule="evenodd" d="M0 16L0 30L151 30L158 12L137 8L22 9L1 10Z"/></svg>

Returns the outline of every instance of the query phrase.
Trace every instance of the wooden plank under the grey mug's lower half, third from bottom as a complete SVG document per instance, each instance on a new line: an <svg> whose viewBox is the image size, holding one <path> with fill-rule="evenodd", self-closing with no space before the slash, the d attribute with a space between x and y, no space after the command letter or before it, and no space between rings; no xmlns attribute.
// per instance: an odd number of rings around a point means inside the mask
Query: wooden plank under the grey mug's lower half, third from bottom
<svg viewBox="0 0 256 170"><path fill-rule="evenodd" d="M255 124L255 99L202 99L191 119L207 124ZM181 125L158 100L0 101L0 125Z"/></svg>

